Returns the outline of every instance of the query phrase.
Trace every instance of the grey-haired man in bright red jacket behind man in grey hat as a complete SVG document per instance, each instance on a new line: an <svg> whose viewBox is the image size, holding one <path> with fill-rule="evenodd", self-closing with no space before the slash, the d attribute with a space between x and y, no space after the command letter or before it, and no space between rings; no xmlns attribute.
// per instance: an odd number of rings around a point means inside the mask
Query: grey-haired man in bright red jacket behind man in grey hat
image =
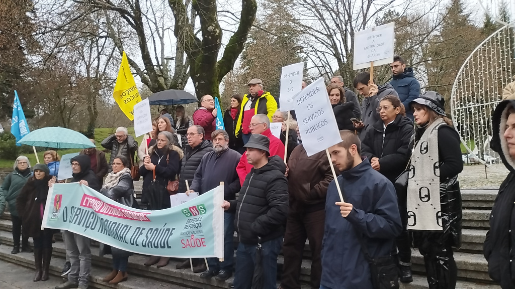
<svg viewBox="0 0 515 289"><path fill-rule="evenodd" d="M283 142L272 135L270 131L270 119L266 114L256 114L250 119L249 129L251 134L262 134L270 139L270 156L278 155L284 159L284 145ZM236 172L238 173L239 183L243 186L245 177L252 169L252 165L247 162L245 154L239 159Z"/></svg>

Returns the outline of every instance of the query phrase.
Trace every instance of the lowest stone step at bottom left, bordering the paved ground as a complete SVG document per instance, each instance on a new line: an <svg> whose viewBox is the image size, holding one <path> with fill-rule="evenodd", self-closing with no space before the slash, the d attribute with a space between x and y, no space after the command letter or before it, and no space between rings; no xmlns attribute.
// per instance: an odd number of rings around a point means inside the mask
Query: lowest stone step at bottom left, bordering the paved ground
<svg viewBox="0 0 515 289"><path fill-rule="evenodd" d="M0 259L18 264L27 268L34 268L34 257L32 253L19 253L16 255L11 255L11 247L8 246L0 246ZM52 258L50 261L50 270L49 273L51 276L56 276L58 278L61 274L61 269L63 266L63 259L61 258ZM182 289L185 288L180 285L167 283L164 284L162 281L153 280L146 277L136 276L129 273L129 278L125 282L121 282L117 285L110 285L108 283L102 282L102 278L104 278L107 274L111 272L110 268L102 268L98 266L92 266L91 268L91 278L89 288L97 288L97 289L108 289L108 288L117 288L117 289L140 289L140 288L156 288L156 289ZM32 274L27 278L32 279ZM43 283L44 284L44 283ZM38 285L41 285L38 283ZM53 287L53 286L52 286Z"/></svg>

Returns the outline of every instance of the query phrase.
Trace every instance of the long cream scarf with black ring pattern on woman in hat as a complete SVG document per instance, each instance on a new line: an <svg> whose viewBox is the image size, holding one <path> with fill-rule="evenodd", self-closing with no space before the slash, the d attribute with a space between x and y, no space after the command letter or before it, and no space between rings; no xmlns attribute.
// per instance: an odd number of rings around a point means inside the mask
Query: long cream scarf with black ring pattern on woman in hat
<svg viewBox="0 0 515 289"><path fill-rule="evenodd" d="M435 120L413 150L407 188L408 230L442 230L438 129L444 124L441 118Z"/></svg>

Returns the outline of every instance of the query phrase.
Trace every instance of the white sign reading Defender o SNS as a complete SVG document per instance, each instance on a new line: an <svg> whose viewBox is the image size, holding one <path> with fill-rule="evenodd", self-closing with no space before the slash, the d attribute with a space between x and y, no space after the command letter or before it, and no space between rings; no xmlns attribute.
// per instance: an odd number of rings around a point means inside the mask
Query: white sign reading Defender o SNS
<svg viewBox="0 0 515 289"><path fill-rule="evenodd" d="M292 98L302 90L304 62L283 66L281 69L281 91L279 109L282 112L293 110Z"/></svg>

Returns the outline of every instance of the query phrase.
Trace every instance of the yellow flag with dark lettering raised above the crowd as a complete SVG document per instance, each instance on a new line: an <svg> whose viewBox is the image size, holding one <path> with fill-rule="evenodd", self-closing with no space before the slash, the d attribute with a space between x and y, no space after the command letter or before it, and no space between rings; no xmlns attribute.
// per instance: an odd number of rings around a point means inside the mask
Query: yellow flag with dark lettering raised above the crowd
<svg viewBox="0 0 515 289"><path fill-rule="evenodd" d="M130 72L129 62L127 56L122 56L122 64L118 70L118 77L116 78L116 84L114 85L113 98L122 112L130 119L134 120L134 104L141 101L138 87L134 82L134 77Z"/></svg>

